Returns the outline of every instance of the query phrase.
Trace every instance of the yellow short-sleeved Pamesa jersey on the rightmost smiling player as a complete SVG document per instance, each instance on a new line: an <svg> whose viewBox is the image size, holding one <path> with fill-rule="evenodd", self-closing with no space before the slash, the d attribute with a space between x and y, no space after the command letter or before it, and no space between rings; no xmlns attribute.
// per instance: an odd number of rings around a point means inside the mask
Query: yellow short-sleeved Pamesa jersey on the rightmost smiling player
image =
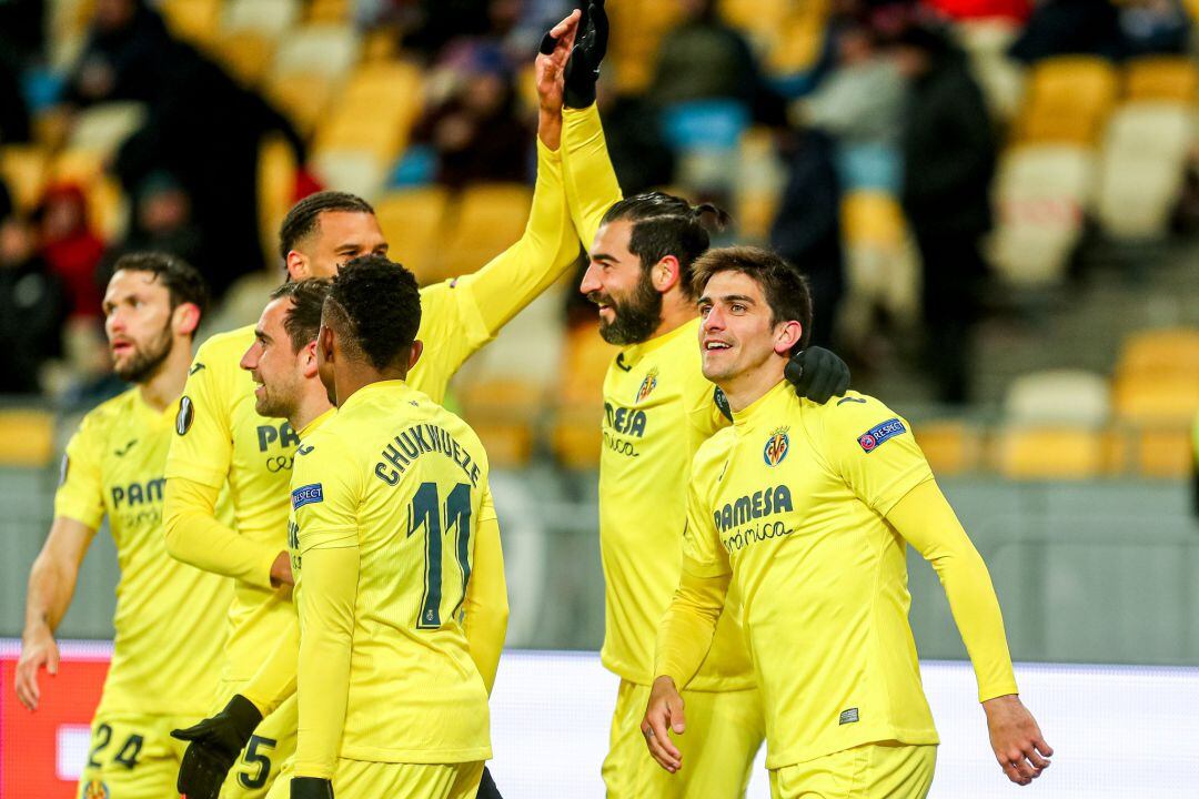
<svg viewBox="0 0 1199 799"><path fill-rule="evenodd" d="M879 740L935 744L908 624L906 543L884 516L932 480L908 423L778 383L697 453L685 569L731 569L766 709L767 768Z"/></svg>

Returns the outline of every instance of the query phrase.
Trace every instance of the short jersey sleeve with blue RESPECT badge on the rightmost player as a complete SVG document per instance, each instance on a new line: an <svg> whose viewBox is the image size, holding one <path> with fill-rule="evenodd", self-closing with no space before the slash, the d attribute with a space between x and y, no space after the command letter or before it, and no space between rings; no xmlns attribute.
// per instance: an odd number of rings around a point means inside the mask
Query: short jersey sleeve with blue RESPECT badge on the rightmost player
<svg viewBox="0 0 1199 799"><path fill-rule="evenodd" d="M905 494L933 479L911 425L886 405L857 392L820 408L829 466L880 515Z"/></svg>

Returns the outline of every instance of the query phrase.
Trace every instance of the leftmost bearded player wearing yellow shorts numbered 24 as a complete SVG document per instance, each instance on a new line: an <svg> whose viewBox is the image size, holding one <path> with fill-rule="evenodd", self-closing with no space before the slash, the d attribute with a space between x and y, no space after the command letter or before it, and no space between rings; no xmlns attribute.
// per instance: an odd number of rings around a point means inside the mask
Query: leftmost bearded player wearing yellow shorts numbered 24
<svg viewBox="0 0 1199 799"><path fill-rule="evenodd" d="M179 563L162 538L163 470L180 416L192 335L207 302L203 278L159 254L126 255L104 295L118 376L133 385L84 417L67 446L54 523L29 576L17 696L37 708L37 672L58 672L54 629L71 604L104 517L116 543L113 660L92 720L79 795L174 794L182 746L169 737L212 702L231 585Z"/></svg>

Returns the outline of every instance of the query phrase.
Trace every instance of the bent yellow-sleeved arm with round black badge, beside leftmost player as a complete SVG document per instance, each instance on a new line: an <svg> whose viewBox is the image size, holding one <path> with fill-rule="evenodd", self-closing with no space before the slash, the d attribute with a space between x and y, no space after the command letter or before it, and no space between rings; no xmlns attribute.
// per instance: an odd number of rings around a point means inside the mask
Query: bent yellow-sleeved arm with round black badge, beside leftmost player
<svg viewBox="0 0 1199 799"><path fill-rule="evenodd" d="M200 347L195 361L206 357ZM183 388L193 417L185 435L171 441L167 458L162 509L167 551L198 569L270 588L271 565L279 550L239 535L216 517L217 497L233 460L227 408L234 389L215 364L193 368Z"/></svg>

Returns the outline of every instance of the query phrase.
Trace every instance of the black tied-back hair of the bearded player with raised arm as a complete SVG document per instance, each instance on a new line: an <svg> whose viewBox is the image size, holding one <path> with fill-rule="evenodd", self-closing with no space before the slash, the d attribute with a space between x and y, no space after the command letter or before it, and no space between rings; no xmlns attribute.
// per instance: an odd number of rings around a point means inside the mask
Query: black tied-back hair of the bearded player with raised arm
<svg viewBox="0 0 1199 799"><path fill-rule="evenodd" d="M667 255L679 260L679 277L683 292L691 293L691 268L697 258L707 252L712 240L705 226L711 217L717 231L729 224L729 214L704 202L692 205L681 196L649 192L635 194L616 202L603 214L601 224L628 220L633 230L628 237L628 252L637 255L641 267L649 270Z"/></svg>

